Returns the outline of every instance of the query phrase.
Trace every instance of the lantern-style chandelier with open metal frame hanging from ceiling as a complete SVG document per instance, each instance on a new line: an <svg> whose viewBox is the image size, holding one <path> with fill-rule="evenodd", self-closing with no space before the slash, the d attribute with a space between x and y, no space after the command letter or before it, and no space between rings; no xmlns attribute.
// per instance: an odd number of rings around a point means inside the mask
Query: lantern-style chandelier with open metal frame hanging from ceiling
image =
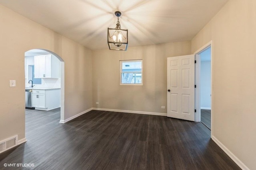
<svg viewBox="0 0 256 170"><path fill-rule="evenodd" d="M115 28L108 28L108 47L110 50L127 50L128 29L121 29L119 17L121 12L116 11L117 22Z"/></svg>

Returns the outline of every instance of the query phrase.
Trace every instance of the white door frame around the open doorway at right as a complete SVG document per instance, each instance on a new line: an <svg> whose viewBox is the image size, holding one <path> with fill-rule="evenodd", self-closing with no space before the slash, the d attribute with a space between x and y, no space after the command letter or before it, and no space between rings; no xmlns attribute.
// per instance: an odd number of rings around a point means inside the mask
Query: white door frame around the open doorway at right
<svg viewBox="0 0 256 170"><path fill-rule="evenodd" d="M213 49L213 42L212 40L208 43L206 43L204 46L202 46L200 49L198 49L196 52L194 52L195 59L197 61L195 66L195 83L196 83L196 89L195 89L195 121L200 122L201 121L201 107L200 107L200 55L202 51L204 51L206 48L211 47L211 137L213 132L213 124L212 124L212 115L214 114L214 105L213 105L213 55L212 55L212 49Z"/></svg>

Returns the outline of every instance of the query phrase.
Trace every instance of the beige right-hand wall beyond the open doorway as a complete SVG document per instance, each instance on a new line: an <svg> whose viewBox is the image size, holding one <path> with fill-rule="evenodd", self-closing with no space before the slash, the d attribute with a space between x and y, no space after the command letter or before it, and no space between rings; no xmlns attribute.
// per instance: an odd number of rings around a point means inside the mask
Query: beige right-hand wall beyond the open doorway
<svg viewBox="0 0 256 170"><path fill-rule="evenodd" d="M256 1L230 0L194 37L213 41L213 136L256 169Z"/></svg>

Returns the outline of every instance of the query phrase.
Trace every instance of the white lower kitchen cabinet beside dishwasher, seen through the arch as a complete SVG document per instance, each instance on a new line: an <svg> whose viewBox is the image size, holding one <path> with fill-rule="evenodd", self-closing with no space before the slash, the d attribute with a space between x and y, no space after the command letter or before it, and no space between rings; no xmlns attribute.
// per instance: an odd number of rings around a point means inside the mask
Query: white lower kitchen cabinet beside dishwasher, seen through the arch
<svg viewBox="0 0 256 170"><path fill-rule="evenodd" d="M60 89L32 90L32 107L37 110L60 107Z"/></svg>

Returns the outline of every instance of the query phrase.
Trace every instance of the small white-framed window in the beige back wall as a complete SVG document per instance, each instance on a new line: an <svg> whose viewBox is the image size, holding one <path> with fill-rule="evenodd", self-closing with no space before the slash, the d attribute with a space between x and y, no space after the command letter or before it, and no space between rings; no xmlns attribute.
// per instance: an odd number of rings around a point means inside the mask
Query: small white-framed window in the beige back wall
<svg viewBox="0 0 256 170"><path fill-rule="evenodd" d="M142 60L120 61L120 84L142 85Z"/></svg>

